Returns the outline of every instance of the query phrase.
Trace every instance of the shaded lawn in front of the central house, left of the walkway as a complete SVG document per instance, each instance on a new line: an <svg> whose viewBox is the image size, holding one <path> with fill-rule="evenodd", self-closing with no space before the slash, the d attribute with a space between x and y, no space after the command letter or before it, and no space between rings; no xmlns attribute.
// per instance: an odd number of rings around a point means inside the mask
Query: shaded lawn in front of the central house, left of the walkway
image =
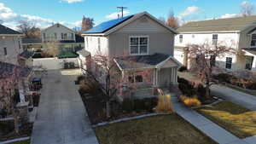
<svg viewBox="0 0 256 144"><path fill-rule="evenodd" d="M96 128L100 144L216 144L177 114Z"/></svg>

